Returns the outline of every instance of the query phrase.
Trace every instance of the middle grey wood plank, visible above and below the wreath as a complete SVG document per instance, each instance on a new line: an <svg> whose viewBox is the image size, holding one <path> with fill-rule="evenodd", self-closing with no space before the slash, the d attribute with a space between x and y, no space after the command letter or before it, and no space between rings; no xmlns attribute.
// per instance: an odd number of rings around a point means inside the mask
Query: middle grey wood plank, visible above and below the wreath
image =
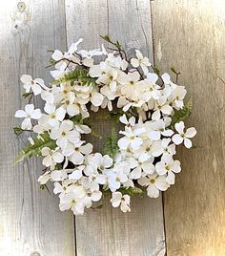
<svg viewBox="0 0 225 256"><path fill-rule="evenodd" d="M96 48L102 43L99 34L109 33L127 49L138 48L153 58L148 0L67 0L66 14L69 45L83 37L84 47ZM107 133L109 126L97 124L100 133ZM102 142L95 146L100 148ZM165 254L161 198L134 200L128 214L105 203L103 209L76 218L75 227L77 255Z"/></svg>

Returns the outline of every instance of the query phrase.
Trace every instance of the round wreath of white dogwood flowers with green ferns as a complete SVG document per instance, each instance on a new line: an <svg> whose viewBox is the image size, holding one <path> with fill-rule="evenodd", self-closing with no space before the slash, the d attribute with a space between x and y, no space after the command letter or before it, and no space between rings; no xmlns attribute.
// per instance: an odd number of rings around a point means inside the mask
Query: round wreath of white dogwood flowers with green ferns
<svg viewBox="0 0 225 256"><path fill-rule="evenodd" d="M174 160L176 145L191 148L196 134L194 127L185 130L183 122L192 111L192 104L183 102L185 87L166 73L160 75L138 50L128 57L118 41L102 37L112 47L78 50L79 39L68 52L52 52L54 80L48 86L41 78L22 75L23 96L29 102L15 113L23 118L21 126L14 127L16 135L36 135L16 162L42 157L41 187L52 181L60 210L72 209L75 215L100 207L97 202L106 193L123 212L131 211L135 194L157 198L181 171L179 160ZM31 104L33 96L45 101L43 111ZM84 137L92 133L90 112L99 108L108 109L124 130L113 129L102 152L92 153Z"/></svg>

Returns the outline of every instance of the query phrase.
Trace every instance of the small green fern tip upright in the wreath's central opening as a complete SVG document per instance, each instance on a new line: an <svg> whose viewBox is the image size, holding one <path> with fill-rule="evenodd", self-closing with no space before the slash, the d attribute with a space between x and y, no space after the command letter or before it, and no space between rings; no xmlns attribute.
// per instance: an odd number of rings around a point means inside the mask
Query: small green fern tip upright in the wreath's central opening
<svg viewBox="0 0 225 256"><path fill-rule="evenodd" d="M104 155L109 155L111 158L118 152L118 145L117 145L117 133L115 129L112 129L111 136L107 138L106 144L103 149Z"/></svg>

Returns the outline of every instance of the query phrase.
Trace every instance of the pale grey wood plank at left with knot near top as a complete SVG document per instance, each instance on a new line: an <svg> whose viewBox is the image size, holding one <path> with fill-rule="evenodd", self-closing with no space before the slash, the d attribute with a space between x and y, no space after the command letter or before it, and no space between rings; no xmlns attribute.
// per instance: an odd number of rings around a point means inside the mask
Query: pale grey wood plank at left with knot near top
<svg viewBox="0 0 225 256"><path fill-rule="evenodd" d="M21 11L17 3L0 1L0 255L71 256L73 216L61 213L57 198L39 189L40 161L13 166L26 139L12 132L19 124L14 112L24 105L20 75L50 78L47 51L66 47L64 3L24 1Z"/></svg>

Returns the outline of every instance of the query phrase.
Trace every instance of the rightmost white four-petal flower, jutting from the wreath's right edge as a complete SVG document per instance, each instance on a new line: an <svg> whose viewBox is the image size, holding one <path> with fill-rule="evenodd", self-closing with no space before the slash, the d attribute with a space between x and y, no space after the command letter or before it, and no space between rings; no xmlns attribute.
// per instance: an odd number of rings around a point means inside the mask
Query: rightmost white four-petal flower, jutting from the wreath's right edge
<svg viewBox="0 0 225 256"><path fill-rule="evenodd" d="M181 144L184 141L184 145L186 148L191 148L193 146L192 140L190 138L194 138L196 135L196 130L194 127L188 128L186 132L184 132L184 122L180 121L175 123L175 130L178 134L175 134L172 138L176 145Z"/></svg>

